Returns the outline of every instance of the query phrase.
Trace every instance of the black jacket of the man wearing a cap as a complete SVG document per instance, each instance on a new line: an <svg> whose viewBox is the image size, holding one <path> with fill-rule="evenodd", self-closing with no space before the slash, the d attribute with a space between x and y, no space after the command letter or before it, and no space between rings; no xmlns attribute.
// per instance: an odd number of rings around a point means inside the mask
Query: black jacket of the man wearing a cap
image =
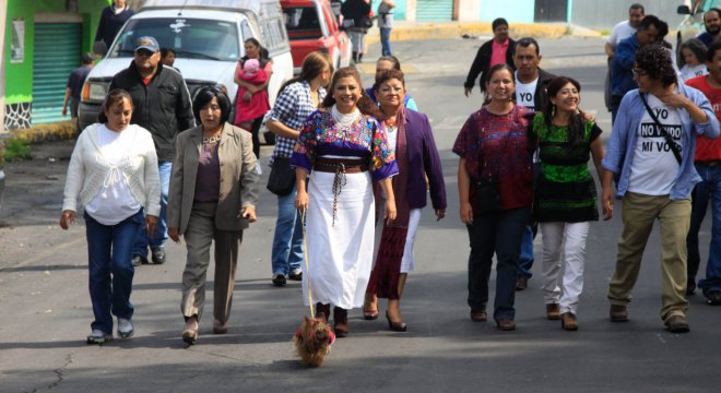
<svg viewBox="0 0 721 393"><path fill-rule="evenodd" d="M109 90L122 88L130 93L134 110L133 124L147 129L155 142L159 162L175 158L175 138L181 131L196 127L190 93L180 73L158 64L157 72L145 86L135 62L118 72Z"/></svg>

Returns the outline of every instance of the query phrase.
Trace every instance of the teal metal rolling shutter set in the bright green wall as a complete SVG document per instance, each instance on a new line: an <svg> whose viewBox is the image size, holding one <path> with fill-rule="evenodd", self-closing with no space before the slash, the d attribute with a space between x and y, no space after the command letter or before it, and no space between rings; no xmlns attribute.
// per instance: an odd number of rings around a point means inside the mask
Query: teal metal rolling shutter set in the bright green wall
<svg viewBox="0 0 721 393"><path fill-rule="evenodd" d="M81 24L36 23L33 43L33 124L70 119L62 117L68 78L80 67Z"/></svg>

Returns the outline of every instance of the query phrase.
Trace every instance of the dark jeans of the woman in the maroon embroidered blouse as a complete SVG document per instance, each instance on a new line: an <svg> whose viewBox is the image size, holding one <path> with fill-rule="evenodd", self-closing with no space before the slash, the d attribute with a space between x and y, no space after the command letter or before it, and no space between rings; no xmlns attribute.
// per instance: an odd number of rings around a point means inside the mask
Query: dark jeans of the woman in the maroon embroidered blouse
<svg viewBox="0 0 721 393"><path fill-rule="evenodd" d="M496 299L494 319L515 319L516 271L521 253L521 239L529 224L528 207L476 215L468 225L471 242L469 257L469 306L485 309L488 302L488 278L496 253Z"/></svg>

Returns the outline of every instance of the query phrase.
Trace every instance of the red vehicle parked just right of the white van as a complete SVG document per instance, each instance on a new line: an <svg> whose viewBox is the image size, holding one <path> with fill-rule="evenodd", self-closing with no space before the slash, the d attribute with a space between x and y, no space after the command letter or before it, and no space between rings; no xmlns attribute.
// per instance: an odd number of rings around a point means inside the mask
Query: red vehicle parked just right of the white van
<svg viewBox="0 0 721 393"><path fill-rule="evenodd" d="M351 66L351 40L341 32L329 0L281 0L281 8L296 74L314 50L328 52L336 69Z"/></svg>

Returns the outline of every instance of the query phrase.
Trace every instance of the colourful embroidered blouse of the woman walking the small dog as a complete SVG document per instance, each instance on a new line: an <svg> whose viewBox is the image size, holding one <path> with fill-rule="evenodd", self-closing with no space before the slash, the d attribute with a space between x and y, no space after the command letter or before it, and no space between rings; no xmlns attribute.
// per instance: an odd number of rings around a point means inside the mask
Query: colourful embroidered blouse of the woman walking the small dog
<svg viewBox="0 0 721 393"><path fill-rule="evenodd" d="M306 120L291 158L292 167L310 172L316 157L345 156L369 160L374 180L398 174L395 157L380 123L362 115L347 127L333 120L330 110L318 109Z"/></svg>

